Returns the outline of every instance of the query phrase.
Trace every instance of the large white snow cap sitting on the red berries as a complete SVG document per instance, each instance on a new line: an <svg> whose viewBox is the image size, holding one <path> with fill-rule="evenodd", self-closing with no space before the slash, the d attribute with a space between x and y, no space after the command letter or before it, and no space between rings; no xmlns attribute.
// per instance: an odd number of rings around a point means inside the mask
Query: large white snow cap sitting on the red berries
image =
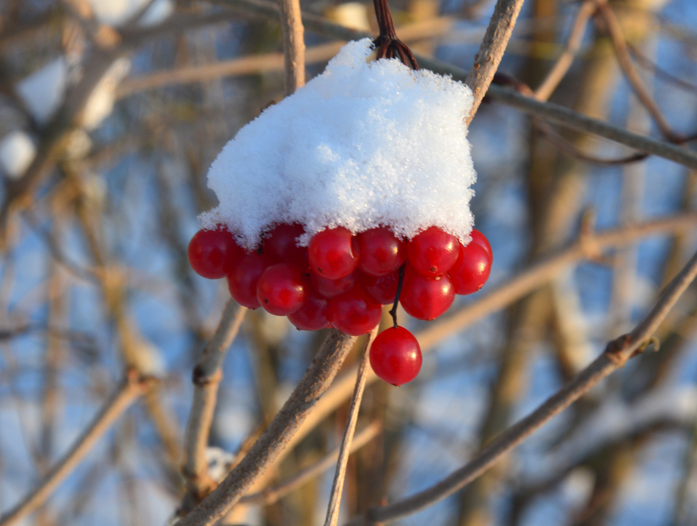
<svg viewBox="0 0 697 526"><path fill-rule="evenodd" d="M203 227L227 225L247 248L293 222L305 225L301 244L339 225L408 238L435 225L469 241L472 92L371 53L368 38L348 43L228 142L208 171L220 204L201 214Z"/></svg>

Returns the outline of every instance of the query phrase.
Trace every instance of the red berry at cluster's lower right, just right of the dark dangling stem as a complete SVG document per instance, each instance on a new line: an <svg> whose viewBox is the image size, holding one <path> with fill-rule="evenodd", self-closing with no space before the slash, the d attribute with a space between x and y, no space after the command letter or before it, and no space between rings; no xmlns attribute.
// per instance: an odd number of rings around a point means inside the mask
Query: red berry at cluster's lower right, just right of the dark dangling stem
<svg viewBox="0 0 697 526"><path fill-rule="evenodd" d="M406 267L399 303L406 313L417 320L435 320L445 313L455 298L455 286L450 276L429 278Z"/></svg>

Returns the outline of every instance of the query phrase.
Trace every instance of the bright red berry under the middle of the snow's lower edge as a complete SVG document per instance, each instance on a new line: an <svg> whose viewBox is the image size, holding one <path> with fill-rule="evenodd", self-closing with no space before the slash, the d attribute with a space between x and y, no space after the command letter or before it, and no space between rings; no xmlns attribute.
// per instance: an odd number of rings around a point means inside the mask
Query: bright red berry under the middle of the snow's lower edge
<svg viewBox="0 0 697 526"><path fill-rule="evenodd" d="M307 248L312 270L325 278L343 278L358 266L358 241L348 228L337 227L317 232Z"/></svg>

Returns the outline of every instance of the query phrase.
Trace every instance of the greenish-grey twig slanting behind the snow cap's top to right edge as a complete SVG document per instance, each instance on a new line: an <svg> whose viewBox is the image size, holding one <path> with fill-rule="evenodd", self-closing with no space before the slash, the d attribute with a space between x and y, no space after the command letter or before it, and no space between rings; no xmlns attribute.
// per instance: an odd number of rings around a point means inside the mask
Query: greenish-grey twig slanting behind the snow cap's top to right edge
<svg viewBox="0 0 697 526"><path fill-rule="evenodd" d="M209 1L230 8L245 10L245 12L255 15L264 15L266 17L278 15L278 6L268 0ZM355 29L339 26L338 24L329 22L323 17L310 13L302 13L302 21L305 23L305 27L308 30L341 40L358 40L371 36L364 31L356 31ZM435 73L441 73L442 75L451 75L454 80L464 81L467 78L468 74L462 68L418 54L415 54L415 57L422 68L429 69ZM579 112L574 112L574 110L569 110L567 107L553 103L543 103L534 98L516 93L512 89L496 86L494 84L489 86L487 96L494 100L498 100L500 103L517 107L519 110L533 114L544 121L556 123L564 128L605 137L606 139L625 144L625 146L637 149L638 151L651 153L652 155L673 160L675 163L697 168L697 153L693 153L680 146L675 146L675 144L669 144L664 141L652 139L651 137L646 137L645 135L631 133L625 129L600 121L599 119L593 119Z"/></svg>

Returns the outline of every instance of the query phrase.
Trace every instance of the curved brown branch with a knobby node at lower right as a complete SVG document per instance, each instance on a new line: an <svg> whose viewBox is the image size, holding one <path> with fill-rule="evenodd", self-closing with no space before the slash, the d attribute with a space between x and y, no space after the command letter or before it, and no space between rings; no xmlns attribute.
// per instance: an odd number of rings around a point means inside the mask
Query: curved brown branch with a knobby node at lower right
<svg viewBox="0 0 697 526"><path fill-rule="evenodd" d="M475 458L457 469L442 481L422 490L411 497L369 509L365 516L351 521L351 525L388 523L398 518L409 516L417 511L441 501L486 472L506 453L521 444L523 440L535 433L554 416L581 398L593 386L625 366L627 360L643 351L654 331L673 308L677 299L697 276L697 253L687 262L682 271L675 276L661 294L651 312L633 331L612 340L605 351L590 366L568 382L557 393L540 405L534 412L508 428L485 446Z"/></svg>

